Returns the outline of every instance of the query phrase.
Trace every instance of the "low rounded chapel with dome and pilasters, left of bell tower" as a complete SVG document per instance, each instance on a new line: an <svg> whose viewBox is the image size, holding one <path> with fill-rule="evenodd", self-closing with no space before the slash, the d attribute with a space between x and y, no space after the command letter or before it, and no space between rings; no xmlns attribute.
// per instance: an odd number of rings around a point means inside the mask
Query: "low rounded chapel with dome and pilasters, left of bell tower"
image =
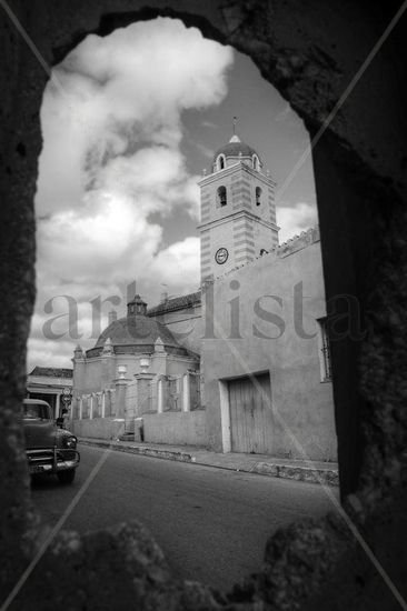
<svg viewBox="0 0 407 611"><path fill-rule="evenodd" d="M198 378L199 355L147 317L147 303L136 294L125 318L110 313L93 348L75 350L75 432L108 439L135 434L136 419L146 413L189 412L199 403Z"/></svg>

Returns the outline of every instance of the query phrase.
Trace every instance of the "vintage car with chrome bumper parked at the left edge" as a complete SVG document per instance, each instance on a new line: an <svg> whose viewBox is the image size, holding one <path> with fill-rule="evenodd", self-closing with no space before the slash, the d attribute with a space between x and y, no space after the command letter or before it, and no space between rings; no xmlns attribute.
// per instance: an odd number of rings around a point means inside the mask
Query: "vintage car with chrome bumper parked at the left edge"
<svg viewBox="0 0 407 611"><path fill-rule="evenodd" d="M22 407L30 475L56 474L61 483L72 483L80 460L77 438L57 427L46 401L24 399Z"/></svg>

